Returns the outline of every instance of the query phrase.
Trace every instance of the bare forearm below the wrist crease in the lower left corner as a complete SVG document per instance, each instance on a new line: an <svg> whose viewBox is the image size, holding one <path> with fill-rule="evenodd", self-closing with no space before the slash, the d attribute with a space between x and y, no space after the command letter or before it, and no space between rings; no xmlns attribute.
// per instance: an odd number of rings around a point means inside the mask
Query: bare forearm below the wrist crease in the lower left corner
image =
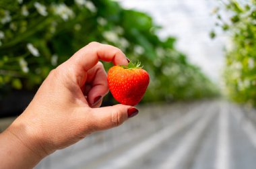
<svg viewBox="0 0 256 169"><path fill-rule="evenodd" d="M0 134L0 168L33 168L42 158L9 129Z"/></svg>

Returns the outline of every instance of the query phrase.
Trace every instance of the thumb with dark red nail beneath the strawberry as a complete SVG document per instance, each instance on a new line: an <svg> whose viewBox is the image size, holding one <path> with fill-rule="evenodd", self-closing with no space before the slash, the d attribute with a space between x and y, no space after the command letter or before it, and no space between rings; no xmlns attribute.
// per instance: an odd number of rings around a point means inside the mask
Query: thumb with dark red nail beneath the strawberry
<svg viewBox="0 0 256 169"><path fill-rule="evenodd" d="M127 118L137 115L139 111L129 105L114 105L92 109L92 126L95 131L110 129L121 125Z"/></svg>

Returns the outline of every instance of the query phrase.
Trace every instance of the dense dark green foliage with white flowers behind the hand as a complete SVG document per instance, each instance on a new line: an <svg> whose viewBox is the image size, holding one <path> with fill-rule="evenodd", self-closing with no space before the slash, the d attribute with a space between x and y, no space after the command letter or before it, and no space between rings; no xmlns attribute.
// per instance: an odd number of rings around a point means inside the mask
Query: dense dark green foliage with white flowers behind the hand
<svg viewBox="0 0 256 169"><path fill-rule="evenodd" d="M0 1L0 90L36 89L49 72L92 41L121 48L150 74L143 101L210 97L216 88L146 13L114 1ZM104 63L106 70L112 64Z"/></svg>

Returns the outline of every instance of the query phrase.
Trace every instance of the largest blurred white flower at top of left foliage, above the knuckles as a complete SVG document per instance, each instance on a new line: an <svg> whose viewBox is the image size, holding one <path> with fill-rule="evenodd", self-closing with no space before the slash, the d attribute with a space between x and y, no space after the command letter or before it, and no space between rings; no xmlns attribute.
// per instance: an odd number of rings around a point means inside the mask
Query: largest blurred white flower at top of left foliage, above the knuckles
<svg viewBox="0 0 256 169"><path fill-rule="evenodd" d="M65 3L53 5L53 10L56 15L59 15L64 21L67 21L69 18L74 17L74 13Z"/></svg>

